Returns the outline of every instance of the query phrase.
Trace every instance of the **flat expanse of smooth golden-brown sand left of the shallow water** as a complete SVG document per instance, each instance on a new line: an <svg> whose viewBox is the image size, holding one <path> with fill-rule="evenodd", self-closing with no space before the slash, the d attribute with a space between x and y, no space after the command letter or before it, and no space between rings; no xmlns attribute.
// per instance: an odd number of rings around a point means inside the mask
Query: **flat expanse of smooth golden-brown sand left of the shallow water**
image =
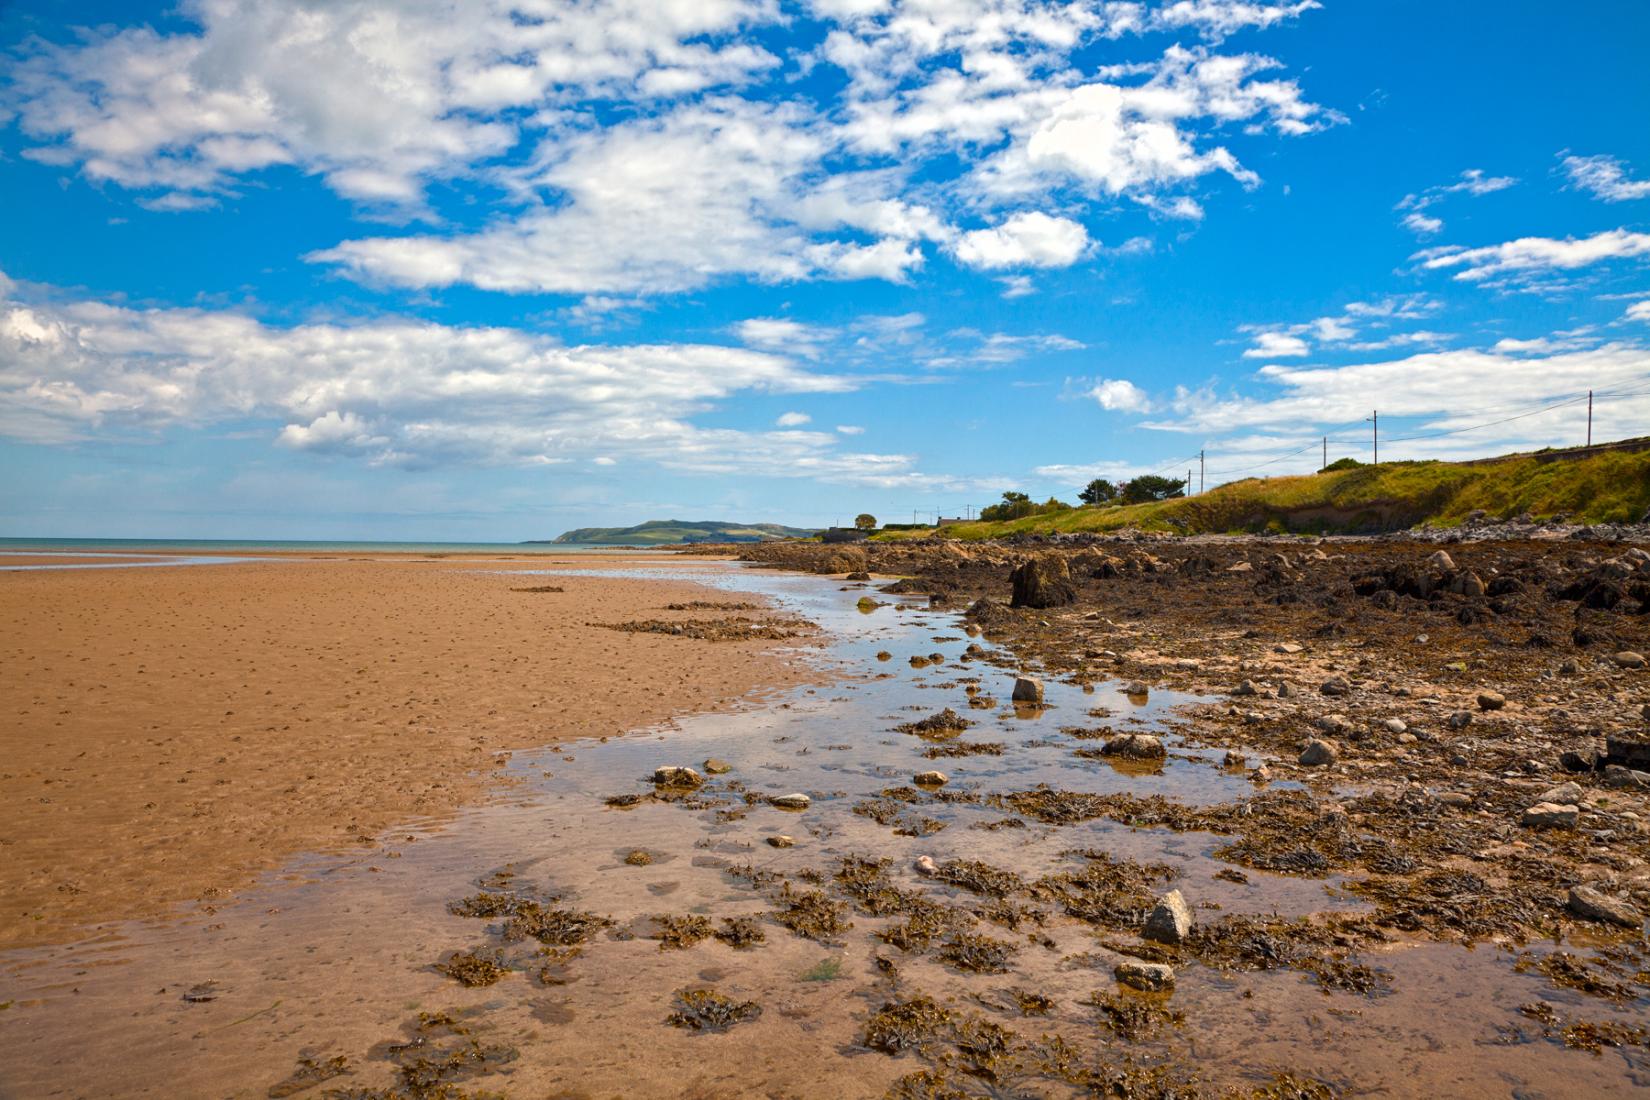
<svg viewBox="0 0 1650 1100"><path fill-rule="evenodd" d="M592 625L691 618L662 609L716 599L700 585L485 572L548 564L0 572L0 947L210 904L292 853L450 813L510 749L805 675L772 643ZM566 590L512 590L538 584Z"/></svg>

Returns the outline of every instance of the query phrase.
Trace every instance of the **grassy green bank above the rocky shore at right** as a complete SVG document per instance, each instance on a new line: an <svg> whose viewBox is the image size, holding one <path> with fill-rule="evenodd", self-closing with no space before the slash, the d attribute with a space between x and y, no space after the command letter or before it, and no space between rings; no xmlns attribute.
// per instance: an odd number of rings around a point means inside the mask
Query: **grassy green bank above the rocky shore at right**
<svg viewBox="0 0 1650 1100"><path fill-rule="evenodd" d="M1564 513L1572 523L1637 523L1650 508L1650 452L1539 460L1391 462L1307 477L1249 478L1200 496L1150 505L1076 508L1006 523L959 523L964 539L1016 531L1373 533L1452 524L1470 511L1497 518ZM888 538L899 538L898 534Z"/></svg>

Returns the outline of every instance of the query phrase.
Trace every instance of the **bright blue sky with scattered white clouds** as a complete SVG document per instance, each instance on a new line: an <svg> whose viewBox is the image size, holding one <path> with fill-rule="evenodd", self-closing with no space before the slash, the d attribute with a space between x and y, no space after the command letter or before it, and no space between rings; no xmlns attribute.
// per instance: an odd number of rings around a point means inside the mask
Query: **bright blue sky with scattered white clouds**
<svg viewBox="0 0 1650 1100"><path fill-rule="evenodd" d="M1373 414L1574 445L1589 389L1650 434L1647 48L1637 0L0 0L0 536L911 521Z"/></svg>

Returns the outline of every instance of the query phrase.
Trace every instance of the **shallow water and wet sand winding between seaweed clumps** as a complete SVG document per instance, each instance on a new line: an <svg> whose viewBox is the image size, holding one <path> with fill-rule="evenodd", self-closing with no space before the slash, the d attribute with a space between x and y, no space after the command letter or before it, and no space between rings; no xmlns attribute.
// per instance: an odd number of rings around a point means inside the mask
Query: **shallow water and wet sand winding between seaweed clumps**
<svg viewBox="0 0 1650 1100"><path fill-rule="evenodd" d="M1299 971L1223 975L1188 966L1172 998L1185 1022L1124 1042L1096 1029L1094 1009L1081 1004L1114 988L1117 957L1069 919L1054 917L1030 935L982 924L987 935L1018 947L1002 975L964 975L934 955L903 955L871 937L888 920L863 914L851 915L855 927L835 943L799 938L769 920L772 902L728 869L754 864L800 886L805 869L828 877L843 856L889 858L898 886L970 905L980 899L921 879L912 861L982 859L1035 877L1071 867L1063 854L1069 849L1096 848L1170 863L1180 872L1175 886L1195 907L1218 905L1224 914L1307 914L1350 902L1328 892L1335 879L1249 871L1247 884L1218 881L1213 874L1226 864L1211 851L1219 841L1200 833L1110 821L987 830L974 826L1011 815L980 803L927 801L914 810L945 828L896 836L851 813L856 801L908 785L931 767L949 773L947 792L1048 782L1188 803L1252 793L1242 773L1219 767L1218 750L1183 750L1168 737L1162 773L1124 773L1076 759L1074 749L1096 742L1059 732L1099 724L1153 729L1191 696L1134 699L1114 686L1084 691L1049 683L1046 709L1015 711L1006 706L1011 670L964 661L977 640L954 615L896 607L899 597L863 585L843 590L833 581L731 564L606 572L691 579L777 599L823 628L823 646L799 650L797 660L818 661L832 686L606 742L518 752L508 764L510 787L454 821L414 823L358 853L295 861L216 912L106 927L71 947L13 952L0 958L0 1097L262 1097L305 1054L343 1055L351 1072L292 1095L386 1087L394 1072L386 1044L406 1042L421 1011L457 1011L478 1042L513 1054L462 1080L462 1088L512 1097L876 1097L929 1065L914 1052L889 1057L861 1046L865 1019L891 996L914 991L957 1011L985 1013L1026 1037L1059 1032L1112 1060L1178 1052L1213 1087L1257 1085L1279 1070L1388 1095L1625 1095L1650 1085L1642 1051L1591 1055L1508 1032L1528 1024L1518 1006L1538 998L1591 1018L1609 1013L1513 973L1510 958L1490 947L1414 945L1368 960L1393 975L1393 993L1379 998L1325 994ZM866 594L884 605L858 610ZM889 660L878 660L879 651ZM911 656L931 653L944 661L909 665ZM975 679L998 701L995 709L969 709L965 686ZM927 742L894 732L896 724L944 706L977 722L962 740L1000 740L1003 755L927 760ZM1089 716L1096 707L1110 714ZM658 765L701 767L708 757L734 769L703 792L726 798L719 808L606 805L614 795L650 792L648 775ZM746 806L742 790L804 792L813 801L802 813L761 801ZM729 818L718 810L746 811ZM795 846L766 843L780 833ZM637 849L652 863L627 864ZM497 872L505 877L495 877L493 889L554 894L558 904L610 917L614 927L581 957L549 965L548 981L512 973L493 986L464 988L432 965L454 950L497 943L490 928L498 922L452 915L447 904ZM658 914L752 915L767 938L751 950L716 940L662 950L650 938ZM526 963L526 948L510 952L512 963ZM898 961L898 986L878 970L878 955ZM531 970L543 965L533 960ZM675 991L706 985L754 1001L761 1016L724 1034L667 1026ZM1054 1013L1020 1019L982 1008L980 998L1010 986L1054 998ZM191 990L193 999L185 998ZM952 1082L970 1095L1071 1093L1035 1075L983 1082L954 1074Z"/></svg>

